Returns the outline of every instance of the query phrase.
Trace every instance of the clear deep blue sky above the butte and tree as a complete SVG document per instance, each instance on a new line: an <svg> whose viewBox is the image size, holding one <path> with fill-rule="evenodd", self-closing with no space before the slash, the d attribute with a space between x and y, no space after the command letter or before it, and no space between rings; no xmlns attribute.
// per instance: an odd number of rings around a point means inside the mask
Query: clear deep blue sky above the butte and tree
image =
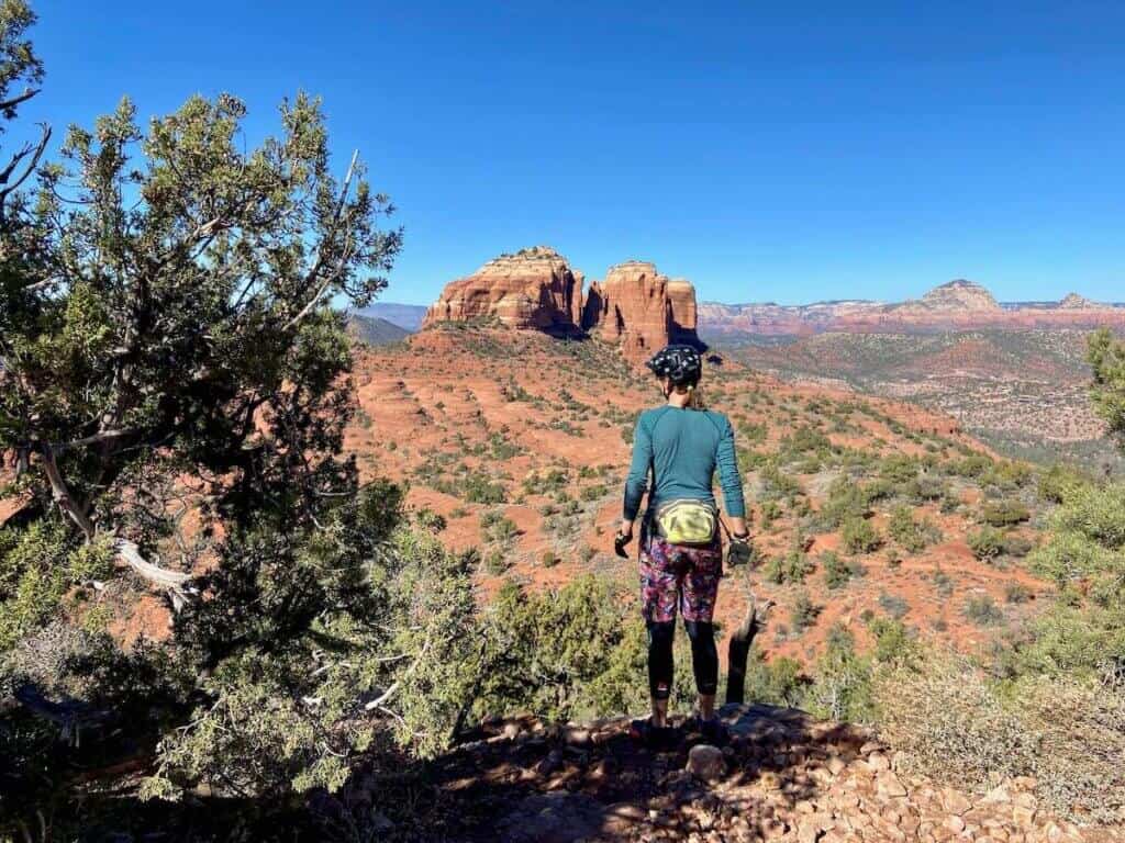
<svg viewBox="0 0 1125 843"><path fill-rule="evenodd" d="M540 243L731 302L1125 299L1119 2L34 4L27 120L322 94L406 228L388 301Z"/></svg>

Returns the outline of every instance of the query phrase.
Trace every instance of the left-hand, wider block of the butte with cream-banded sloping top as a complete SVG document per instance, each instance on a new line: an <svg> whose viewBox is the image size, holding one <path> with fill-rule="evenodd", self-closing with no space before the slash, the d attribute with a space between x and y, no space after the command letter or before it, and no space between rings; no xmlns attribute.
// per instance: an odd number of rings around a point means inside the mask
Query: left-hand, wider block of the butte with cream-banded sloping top
<svg viewBox="0 0 1125 843"><path fill-rule="evenodd" d="M513 328L575 332L580 319L582 273L549 246L501 255L468 278L452 281L425 315L440 321L498 319Z"/></svg>

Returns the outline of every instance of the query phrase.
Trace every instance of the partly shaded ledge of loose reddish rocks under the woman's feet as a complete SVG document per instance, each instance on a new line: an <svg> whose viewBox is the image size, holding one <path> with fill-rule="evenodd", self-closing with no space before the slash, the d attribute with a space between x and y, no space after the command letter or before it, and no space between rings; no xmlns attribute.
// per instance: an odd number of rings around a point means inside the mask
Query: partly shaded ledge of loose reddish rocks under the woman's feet
<svg viewBox="0 0 1125 843"><path fill-rule="evenodd" d="M494 722L431 770L441 819L396 831L464 843L1125 840L1040 810L1034 779L966 794L908 774L862 727L759 705L721 714L727 746L684 734L668 752L636 744L626 718Z"/></svg>

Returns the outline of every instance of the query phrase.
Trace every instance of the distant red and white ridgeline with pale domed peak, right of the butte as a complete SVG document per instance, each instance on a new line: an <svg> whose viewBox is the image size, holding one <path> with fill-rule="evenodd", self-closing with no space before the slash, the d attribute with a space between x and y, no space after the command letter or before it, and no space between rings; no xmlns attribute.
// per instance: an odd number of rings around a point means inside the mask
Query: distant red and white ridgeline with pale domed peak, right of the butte
<svg viewBox="0 0 1125 843"><path fill-rule="evenodd" d="M898 303L848 300L782 306L699 307L704 335L807 335L822 332L933 333L976 328L1125 327L1125 306L1090 301L1070 293L1061 301L1000 303L980 284L958 279L921 297Z"/></svg>

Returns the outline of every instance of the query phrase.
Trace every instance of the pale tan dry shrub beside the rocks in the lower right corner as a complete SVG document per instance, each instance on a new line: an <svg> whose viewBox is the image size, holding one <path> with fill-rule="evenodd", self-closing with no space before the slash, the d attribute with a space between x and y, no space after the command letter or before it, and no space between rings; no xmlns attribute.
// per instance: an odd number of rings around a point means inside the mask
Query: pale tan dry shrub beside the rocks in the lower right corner
<svg viewBox="0 0 1125 843"><path fill-rule="evenodd" d="M1125 818L1125 697L1112 689L1037 677L1001 694L966 659L932 652L878 677L874 696L880 733L911 772L978 791L1029 776L1065 817Z"/></svg>

